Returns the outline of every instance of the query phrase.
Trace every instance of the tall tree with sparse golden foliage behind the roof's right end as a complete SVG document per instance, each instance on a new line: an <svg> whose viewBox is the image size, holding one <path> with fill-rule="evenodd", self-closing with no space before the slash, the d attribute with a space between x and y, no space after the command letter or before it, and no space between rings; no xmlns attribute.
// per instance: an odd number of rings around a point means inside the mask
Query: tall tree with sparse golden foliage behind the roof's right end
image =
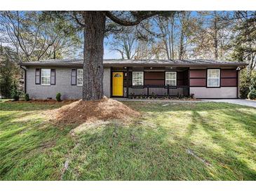
<svg viewBox="0 0 256 192"><path fill-rule="evenodd" d="M192 42L193 55L201 59L225 60L231 40L232 22L227 11L198 12L198 25Z"/></svg>

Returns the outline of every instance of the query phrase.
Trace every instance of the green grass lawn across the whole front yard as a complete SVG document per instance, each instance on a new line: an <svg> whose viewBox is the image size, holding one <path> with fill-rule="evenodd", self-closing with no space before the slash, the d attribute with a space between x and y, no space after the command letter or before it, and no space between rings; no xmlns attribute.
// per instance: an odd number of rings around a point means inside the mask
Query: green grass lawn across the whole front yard
<svg viewBox="0 0 256 192"><path fill-rule="evenodd" d="M40 114L62 104L0 102L0 179L256 180L256 109L124 103L142 117L81 125L72 136L77 125Z"/></svg>

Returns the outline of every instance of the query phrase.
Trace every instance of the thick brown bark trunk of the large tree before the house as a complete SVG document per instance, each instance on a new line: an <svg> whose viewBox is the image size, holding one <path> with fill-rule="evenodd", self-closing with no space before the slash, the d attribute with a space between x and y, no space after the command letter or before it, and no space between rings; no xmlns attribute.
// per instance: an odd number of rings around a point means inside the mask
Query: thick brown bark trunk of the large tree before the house
<svg viewBox="0 0 256 192"><path fill-rule="evenodd" d="M106 15L101 11L84 11L83 100L103 97L103 42Z"/></svg>

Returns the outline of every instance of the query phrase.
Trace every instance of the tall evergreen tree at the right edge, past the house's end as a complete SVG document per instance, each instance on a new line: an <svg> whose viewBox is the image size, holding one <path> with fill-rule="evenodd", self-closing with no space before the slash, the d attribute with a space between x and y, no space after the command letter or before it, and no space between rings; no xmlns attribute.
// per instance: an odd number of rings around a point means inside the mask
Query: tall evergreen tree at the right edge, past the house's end
<svg viewBox="0 0 256 192"><path fill-rule="evenodd" d="M236 22L233 29L231 60L248 63L241 73L241 97L250 92L252 79L256 79L256 11L236 11L231 18Z"/></svg>

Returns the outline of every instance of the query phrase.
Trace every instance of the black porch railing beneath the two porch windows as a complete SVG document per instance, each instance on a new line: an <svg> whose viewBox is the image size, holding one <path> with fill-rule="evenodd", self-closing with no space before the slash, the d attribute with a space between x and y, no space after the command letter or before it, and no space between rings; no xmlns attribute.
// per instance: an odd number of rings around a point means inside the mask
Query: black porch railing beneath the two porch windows
<svg viewBox="0 0 256 192"><path fill-rule="evenodd" d="M188 97L189 96L189 86L156 86L156 85L146 85L146 86L129 86L128 96L159 96L159 97Z"/></svg>

